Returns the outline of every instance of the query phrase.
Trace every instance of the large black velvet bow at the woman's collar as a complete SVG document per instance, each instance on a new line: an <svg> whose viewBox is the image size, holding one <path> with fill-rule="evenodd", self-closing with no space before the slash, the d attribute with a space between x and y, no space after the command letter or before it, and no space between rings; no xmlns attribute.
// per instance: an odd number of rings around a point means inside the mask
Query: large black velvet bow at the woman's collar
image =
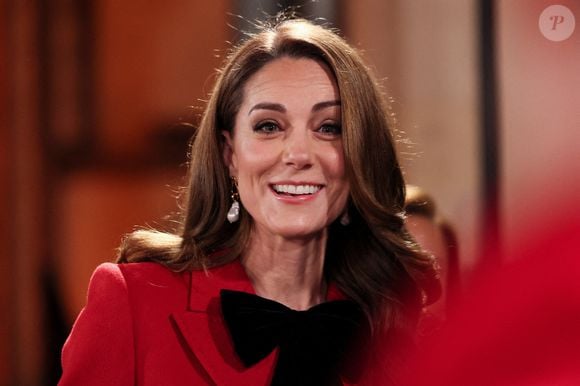
<svg viewBox="0 0 580 386"><path fill-rule="evenodd" d="M280 348L272 385L341 385L341 375L349 381L358 376L355 346L368 335L368 323L355 302L336 300L295 311L245 292L221 290L220 295L234 348L245 366Z"/></svg>

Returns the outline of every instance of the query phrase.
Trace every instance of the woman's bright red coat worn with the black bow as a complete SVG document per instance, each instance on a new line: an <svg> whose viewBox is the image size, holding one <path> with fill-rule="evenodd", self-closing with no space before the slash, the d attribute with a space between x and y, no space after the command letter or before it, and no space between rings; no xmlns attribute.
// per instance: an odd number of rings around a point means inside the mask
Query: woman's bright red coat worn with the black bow
<svg viewBox="0 0 580 386"><path fill-rule="evenodd" d="M242 365L222 319L222 288L254 293L237 261L185 273L100 265L64 345L59 385L269 385L277 351ZM329 300L341 297L329 290Z"/></svg>

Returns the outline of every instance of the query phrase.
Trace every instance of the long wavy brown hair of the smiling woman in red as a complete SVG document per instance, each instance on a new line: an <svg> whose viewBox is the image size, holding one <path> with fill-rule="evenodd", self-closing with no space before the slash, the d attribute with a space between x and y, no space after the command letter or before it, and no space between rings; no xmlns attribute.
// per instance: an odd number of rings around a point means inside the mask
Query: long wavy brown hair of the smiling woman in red
<svg viewBox="0 0 580 386"><path fill-rule="evenodd" d="M230 224L231 181L222 130L232 131L244 85L281 57L325 64L336 79L350 185L350 224L329 227L324 274L356 301L373 326L414 326L425 301L439 296L434 262L404 227L405 184L376 79L357 51L334 31L303 19L266 25L234 48L209 96L191 142L183 214L174 233L127 235L119 263L154 261L175 271L206 269L238 258L252 231L243 210Z"/></svg>

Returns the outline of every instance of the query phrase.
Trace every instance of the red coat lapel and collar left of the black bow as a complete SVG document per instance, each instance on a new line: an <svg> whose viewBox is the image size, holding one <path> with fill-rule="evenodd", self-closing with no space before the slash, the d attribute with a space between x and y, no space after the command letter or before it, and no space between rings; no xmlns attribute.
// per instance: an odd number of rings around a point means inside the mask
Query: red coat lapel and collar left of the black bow
<svg viewBox="0 0 580 386"><path fill-rule="evenodd" d="M245 368L238 359L225 326L219 291L254 293L241 264L230 264L191 273L189 307L172 314L176 328L195 359L217 385L268 385L277 351Z"/></svg>

